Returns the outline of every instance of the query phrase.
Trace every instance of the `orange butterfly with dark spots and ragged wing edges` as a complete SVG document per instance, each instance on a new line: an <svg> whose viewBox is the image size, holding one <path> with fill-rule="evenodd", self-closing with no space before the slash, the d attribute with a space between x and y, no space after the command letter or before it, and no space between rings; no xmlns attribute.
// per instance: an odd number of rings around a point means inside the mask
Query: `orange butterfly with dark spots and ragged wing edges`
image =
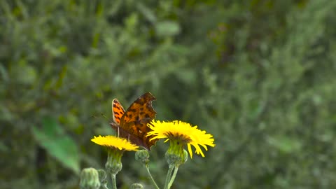
<svg viewBox="0 0 336 189"><path fill-rule="evenodd" d="M148 151L151 151L151 146L157 141L157 139L151 140L153 138L151 136L146 136L151 131L147 124L151 123L156 114L152 106L153 100L155 100L153 94L146 92L136 99L127 111L118 99L113 99L112 102L111 127L116 130L118 137L128 139L132 144L142 146Z"/></svg>

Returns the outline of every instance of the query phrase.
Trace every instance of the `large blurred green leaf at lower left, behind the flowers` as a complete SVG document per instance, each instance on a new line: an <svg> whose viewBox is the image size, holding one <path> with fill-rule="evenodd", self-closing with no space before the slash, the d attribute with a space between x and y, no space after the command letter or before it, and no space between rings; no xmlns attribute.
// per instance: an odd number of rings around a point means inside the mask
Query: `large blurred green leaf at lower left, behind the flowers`
<svg viewBox="0 0 336 189"><path fill-rule="evenodd" d="M64 167L76 174L80 172L79 151L75 141L67 135L63 128L52 118L43 118L42 127L34 126L32 132L38 144L61 162Z"/></svg>

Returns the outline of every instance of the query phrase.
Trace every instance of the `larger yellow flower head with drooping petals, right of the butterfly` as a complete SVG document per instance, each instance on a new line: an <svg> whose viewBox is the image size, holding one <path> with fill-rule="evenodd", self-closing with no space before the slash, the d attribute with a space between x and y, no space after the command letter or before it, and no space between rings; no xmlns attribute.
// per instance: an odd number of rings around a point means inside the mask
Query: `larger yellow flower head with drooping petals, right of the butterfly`
<svg viewBox="0 0 336 189"><path fill-rule="evenodd" d="M190 158L193 158L191 146L194 146L196 149L195 153L202 155L202 157L204 157L204 153L200 146L206 151L208 150L207 146L215 146L214 138L211 134L207 134L205 131L197 129L197 126L192 127L189 123L184 123L179 120L174 120L172 122L152 121L148 124L148 127L153 131L148 132L147 135L155 136L151 140L167 139L166 141L169 141L169 139L177 139L183 144L187 144Z"/></svg>

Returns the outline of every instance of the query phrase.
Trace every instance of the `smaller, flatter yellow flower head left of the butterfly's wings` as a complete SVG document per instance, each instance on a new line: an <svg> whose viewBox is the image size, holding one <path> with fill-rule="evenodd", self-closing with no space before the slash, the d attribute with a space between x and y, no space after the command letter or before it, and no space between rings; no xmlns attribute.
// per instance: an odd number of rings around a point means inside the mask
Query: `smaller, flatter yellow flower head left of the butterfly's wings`
<svg viewBox="0 0 336 189"><path fill-rule="evenodd" d="M114 137L114 136L99 136L91 139L95 144L100 146L108 146L112 148L118 148L120 151L138 151L139 146L130 143L126 139Z"/></svg>

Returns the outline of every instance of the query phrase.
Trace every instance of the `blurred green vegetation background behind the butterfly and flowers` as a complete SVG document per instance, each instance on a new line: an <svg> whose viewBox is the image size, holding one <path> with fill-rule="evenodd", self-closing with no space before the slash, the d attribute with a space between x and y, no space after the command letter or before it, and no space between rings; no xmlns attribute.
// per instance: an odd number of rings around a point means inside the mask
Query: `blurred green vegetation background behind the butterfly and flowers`
<svg viewBox="0 0 336 189"><path fill-rule="evenodd" d="M0 1L0 188L78 188L111 100L214 134L174 188L336 186L336 1ZM152 148L162 186L167 144ZM149 186L126 153L118 186Z"/></svg>

